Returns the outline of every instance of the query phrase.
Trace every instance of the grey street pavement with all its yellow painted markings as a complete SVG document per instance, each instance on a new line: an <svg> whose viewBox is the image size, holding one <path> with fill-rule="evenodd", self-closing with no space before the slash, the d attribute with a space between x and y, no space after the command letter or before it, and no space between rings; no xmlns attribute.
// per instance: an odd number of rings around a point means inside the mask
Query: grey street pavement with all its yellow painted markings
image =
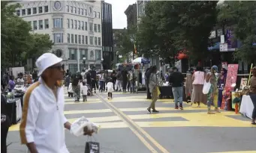
<svg viewBox="0 0 256 153"><path fill-rule="evenodd" d="M87 141L100 143L102 153L256 153L256 127L233 111L206 114L206 106L184 104L175 110L172 99L159 99L160 113L149 114L146 93L107 93L74 102L65 90L65 116L70 122L85 116L101 125L93 137L66 131L71 153L83 153ZM26 152L20 145L19 124L8 133L8 153Z"/></svg>

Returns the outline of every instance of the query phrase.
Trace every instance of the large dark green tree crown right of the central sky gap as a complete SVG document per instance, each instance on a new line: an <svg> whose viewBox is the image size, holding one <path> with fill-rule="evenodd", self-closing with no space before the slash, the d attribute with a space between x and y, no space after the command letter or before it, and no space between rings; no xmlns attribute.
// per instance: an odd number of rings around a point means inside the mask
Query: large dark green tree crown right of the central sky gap
<svg viewBox="0 0 256 153"><path fill-rule="evenodd" d="M202 59L208 52L217 2L150 1L137 34L140 47L145 49L143 54L174 57L177 51L187 49L190 57Z"/></svg>

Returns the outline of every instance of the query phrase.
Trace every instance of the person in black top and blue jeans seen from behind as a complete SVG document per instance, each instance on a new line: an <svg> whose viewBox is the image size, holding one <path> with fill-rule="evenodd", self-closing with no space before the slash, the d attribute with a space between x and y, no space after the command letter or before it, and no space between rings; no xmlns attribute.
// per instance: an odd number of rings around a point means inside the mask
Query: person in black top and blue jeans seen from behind
<svg viewBox="0 0 256 153"><path fill-rule="evenodd" d="M176 67L173 68L173 72L169 76L169 84L172 86L173 97L175 102L175 109L183 110L183 84L185 78ZM179 105L178 105L179 103Z"/></svg>

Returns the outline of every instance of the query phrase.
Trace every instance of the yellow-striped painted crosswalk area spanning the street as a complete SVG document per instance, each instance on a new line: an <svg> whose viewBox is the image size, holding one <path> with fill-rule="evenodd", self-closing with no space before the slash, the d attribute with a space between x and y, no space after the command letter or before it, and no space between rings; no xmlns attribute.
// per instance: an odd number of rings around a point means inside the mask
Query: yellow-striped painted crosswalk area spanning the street
<svg viewBox="0 0 256 153"><path fill-rule="evenodd" d="M148 114L146 107L151 102L142 94L113 93L113 99L107 99L106 93L97 93L106 102L113 104L138 126L146 127L250 127L248 120L232 111L222 111L214 115L206 114L206 106L196 107L184 104L184 110L175 110L172 99L158 99L157 110L161 113ZM97 122L101 128L128 128L128 125L116 116L98 96L88 96L88 102L74 102L65 90L65 116L70 122L85 116ZM10 131L18 131L19 124L12 125Z"/></svg>

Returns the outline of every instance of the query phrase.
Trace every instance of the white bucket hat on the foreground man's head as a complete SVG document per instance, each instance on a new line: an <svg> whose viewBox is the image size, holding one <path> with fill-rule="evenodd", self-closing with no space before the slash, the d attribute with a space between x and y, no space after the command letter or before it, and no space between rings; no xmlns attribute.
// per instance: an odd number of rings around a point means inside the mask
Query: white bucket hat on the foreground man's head
<svg viewBox="0 0 256 153"><path fill-rule="evenodd" d="M45 69L47 69L50 66L53 66L56 63L59 63L62 61L62 58L57 57L53 53L44 53L40 57L38 57L38 60L35 62L35 65L38 67L38 76L40 76Z"/></svg>

